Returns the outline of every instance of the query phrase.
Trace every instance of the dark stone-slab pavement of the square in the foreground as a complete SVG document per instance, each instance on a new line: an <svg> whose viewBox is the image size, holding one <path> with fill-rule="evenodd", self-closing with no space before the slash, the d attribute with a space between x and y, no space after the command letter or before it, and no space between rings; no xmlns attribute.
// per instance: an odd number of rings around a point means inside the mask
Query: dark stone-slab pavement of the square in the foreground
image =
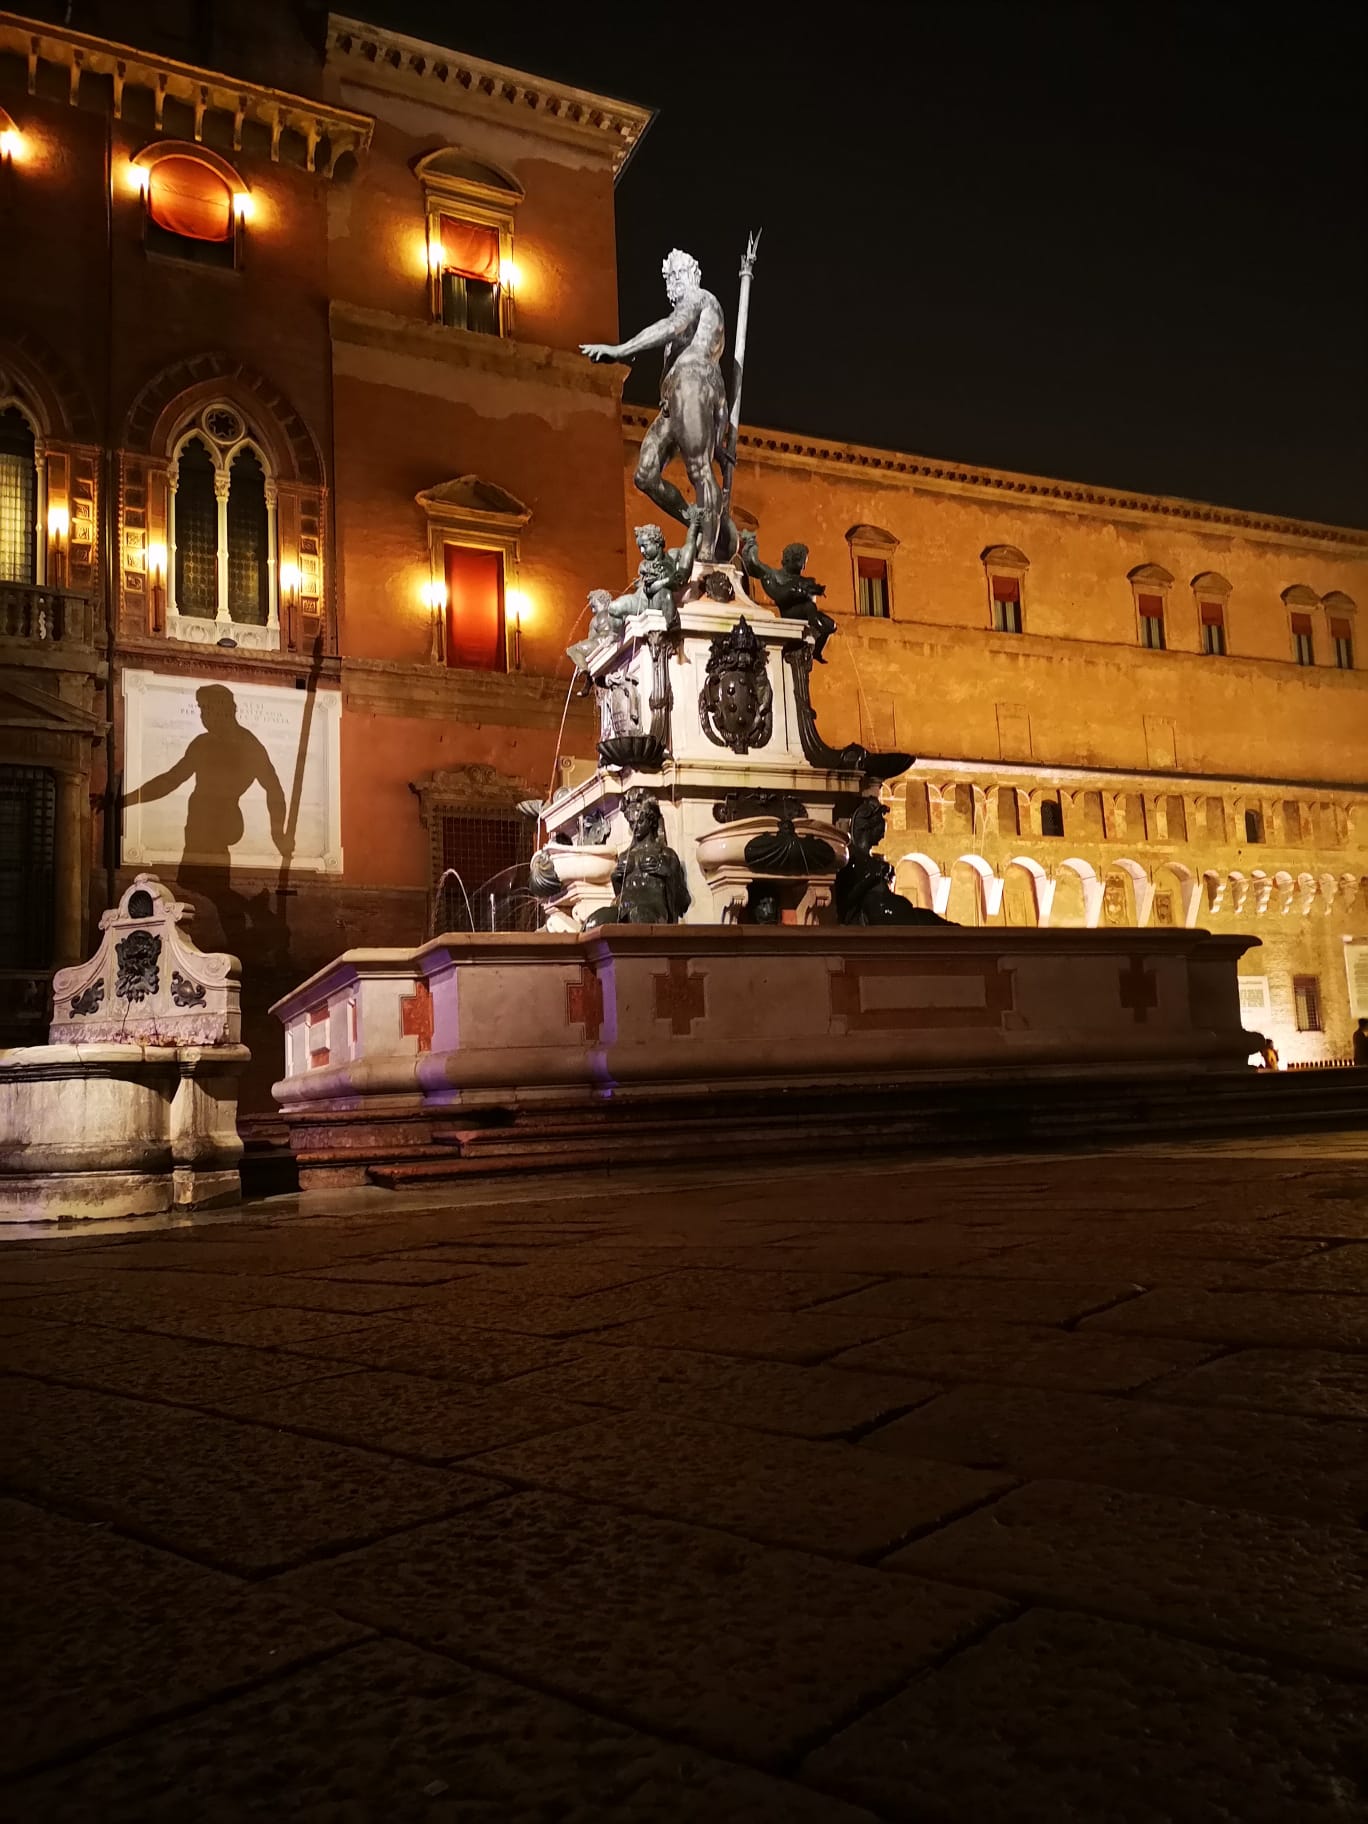
<svg viewBox="0 0 1368 1824"><path fill-rule="evenodd" d="M0 1248L4 1815L1368 1819L1368 1142Z"/></svg>

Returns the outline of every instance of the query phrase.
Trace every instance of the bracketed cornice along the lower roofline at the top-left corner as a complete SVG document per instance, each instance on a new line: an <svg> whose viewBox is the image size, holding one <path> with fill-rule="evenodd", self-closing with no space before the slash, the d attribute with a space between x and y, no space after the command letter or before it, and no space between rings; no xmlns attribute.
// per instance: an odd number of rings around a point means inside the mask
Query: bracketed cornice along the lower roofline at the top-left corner
<svg viewBox="0 0 1368 1824"><path fill-rule="evenodd" d="M80 77L89 71L113 82L113 115L124 115L124 93L130 88L148 89L153 98L157 133L162 131L166 97L184 102L193 111L197 142L204 139L204 120L223 115L232 124L233 151L243 150L243 122L254 120L270 130L272 164L281 157L281 137L299 133L305 140L305 168L317 170L319 146L326 146L328 177L334 175L343 153L363 153L370 146L374 120L370 115L347 108L330 108L303 95L283 89L263 89L255 82L241 82L215 69L179 64L170 57L139 51L131 44L111 38L91 38L62 26L0 13L0 53L24 58L29 73L29 95L38 88L38 64L55 64L67 71L67 98L75 108L80 97Z"/></svg>

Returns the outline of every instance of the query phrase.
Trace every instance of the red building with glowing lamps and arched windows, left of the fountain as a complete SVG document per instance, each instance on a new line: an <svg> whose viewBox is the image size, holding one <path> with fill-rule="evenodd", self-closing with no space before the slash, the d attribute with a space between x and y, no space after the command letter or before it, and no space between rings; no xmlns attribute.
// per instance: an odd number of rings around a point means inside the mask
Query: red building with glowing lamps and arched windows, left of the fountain
<svg viewBox="0 0 1368 1824"><path fill-rule="evenodd" d="M0 15L4 1032L146 866L243 956L268 1082L272 998L416 941L551 784L626 565L622 376L575 350L649 117L268 0L162 13Z"/></svg>

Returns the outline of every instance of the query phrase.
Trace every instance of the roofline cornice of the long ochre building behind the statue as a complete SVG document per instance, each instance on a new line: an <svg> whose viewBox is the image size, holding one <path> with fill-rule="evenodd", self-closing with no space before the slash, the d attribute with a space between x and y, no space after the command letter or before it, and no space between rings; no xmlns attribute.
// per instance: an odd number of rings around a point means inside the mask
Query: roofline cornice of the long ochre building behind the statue
<svg viewBox="0 0 1368 1824"><path fill-rule="evenodd" d="M655 414L640 405L622 409L622 429L629 443L640 443ZM755 430L741 427L739 456L779 469L806 469L819 474L859 472L866 480L897 485L914 482L930 492L978 498L1007 498L1023 507L1089 513L1127 520L1149 520L1164 525L1184 525L1195 533L1235 531L1251 538L1280 544L1321 545L1368 556L1368 529L1353 525L1324 525L1319 520L1286 520L1275 514L1242 513L1238 507L1215 507L1204 500L1180 500L1169 494L1113 492L1102 487L1083 487L1078 482L1054 482L1040 474L1018 474L1010 469L981 469L972 463L934 461L928 456L905 456L897 451L879 451L863 443L815 441L788 430Z"/></svg>

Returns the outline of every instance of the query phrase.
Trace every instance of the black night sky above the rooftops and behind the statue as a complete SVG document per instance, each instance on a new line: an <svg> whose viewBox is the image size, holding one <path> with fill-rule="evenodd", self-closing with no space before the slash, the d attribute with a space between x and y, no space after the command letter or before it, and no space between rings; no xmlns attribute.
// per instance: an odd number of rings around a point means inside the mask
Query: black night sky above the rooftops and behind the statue
<svg viewBox="0 0 1368 1824"><path fill-rule="evenodd" d="M618 188L622 334L675 244L731 325L762 226L748 423L1368 525L1350 9L356 4L658 108Z"/></svg>

